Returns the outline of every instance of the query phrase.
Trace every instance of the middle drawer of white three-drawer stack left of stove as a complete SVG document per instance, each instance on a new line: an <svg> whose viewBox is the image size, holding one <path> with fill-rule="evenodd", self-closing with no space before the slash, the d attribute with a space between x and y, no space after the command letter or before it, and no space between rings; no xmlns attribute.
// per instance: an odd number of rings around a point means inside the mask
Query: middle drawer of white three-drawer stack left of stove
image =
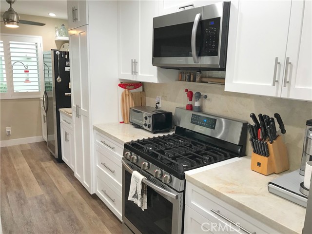
<svg viewBox="0 0 312 234"><path fill-rule="evenodd" d="M103 180L109 176L118 184L118 187L120 187L121 191L121 157L106 149L102 149L98 145L95 145L95 155L97 162L96 176L99 176Z"/></svg>

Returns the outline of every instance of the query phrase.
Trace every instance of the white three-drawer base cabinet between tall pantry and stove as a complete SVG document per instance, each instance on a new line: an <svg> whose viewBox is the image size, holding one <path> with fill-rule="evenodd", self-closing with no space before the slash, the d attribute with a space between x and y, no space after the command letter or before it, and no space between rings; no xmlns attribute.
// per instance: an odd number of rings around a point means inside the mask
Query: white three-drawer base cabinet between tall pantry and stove
<svg viewBox="0 0 312 234"><path fill-rule="evenodd" d="M123 146L94 131L96 194L121 220Z"/></svg>

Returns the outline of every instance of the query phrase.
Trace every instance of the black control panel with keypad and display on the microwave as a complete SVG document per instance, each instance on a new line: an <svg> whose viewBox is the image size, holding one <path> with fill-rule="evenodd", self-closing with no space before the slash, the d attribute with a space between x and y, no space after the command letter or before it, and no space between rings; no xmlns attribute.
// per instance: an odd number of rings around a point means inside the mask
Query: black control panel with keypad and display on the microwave
<svg viewBox="0 0 312 234"><path fill-rule="evenodd" d="M218 56L220 17L202 20L203 49L200 56Z"/></svg>

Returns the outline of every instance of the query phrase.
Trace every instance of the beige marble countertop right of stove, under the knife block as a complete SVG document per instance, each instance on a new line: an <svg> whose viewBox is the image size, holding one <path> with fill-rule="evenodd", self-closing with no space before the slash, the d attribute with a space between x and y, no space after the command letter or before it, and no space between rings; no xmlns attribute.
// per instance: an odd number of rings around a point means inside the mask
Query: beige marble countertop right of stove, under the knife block
<svg viewBox="0 0 312 234"><path fill-rule="evenodd" d="M240 159L198 173L191 171L185 178L280 233L301 234L306 209L268 191L269 181L289 171L264 176L250 169L250 156Z"/></svg>

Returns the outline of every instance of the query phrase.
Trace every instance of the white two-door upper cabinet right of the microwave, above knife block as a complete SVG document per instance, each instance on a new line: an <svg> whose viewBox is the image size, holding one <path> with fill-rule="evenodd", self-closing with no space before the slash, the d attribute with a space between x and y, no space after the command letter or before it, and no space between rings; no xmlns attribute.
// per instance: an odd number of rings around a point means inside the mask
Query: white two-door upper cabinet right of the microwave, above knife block
<svg viewBox="0 0 312 234"><path fill-rule="evenodd" d="M311 2L231 1L228 41L226 91L312 100Z"/></svg>

